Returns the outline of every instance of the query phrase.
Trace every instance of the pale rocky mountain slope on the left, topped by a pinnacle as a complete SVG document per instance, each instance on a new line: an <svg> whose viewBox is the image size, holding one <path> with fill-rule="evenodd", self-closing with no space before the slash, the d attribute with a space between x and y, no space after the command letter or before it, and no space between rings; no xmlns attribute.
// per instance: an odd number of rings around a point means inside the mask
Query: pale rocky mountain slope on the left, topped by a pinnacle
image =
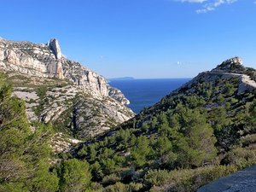
<svg viewBox="0 0 256 192"><path fill-rule="evenodd" d="M32 44L0 39L0 70L26 101L31 122L52 122L72 137L93 137L131 119L129 101L101 75L61 54L56 39Z"/></svg>

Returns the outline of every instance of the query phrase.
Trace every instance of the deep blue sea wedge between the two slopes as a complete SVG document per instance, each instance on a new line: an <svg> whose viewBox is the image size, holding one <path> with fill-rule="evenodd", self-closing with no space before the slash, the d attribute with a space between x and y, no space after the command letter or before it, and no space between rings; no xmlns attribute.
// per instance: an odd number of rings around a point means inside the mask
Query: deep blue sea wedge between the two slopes
<svg viewBox="0 0 256 192"><path fill-rule="evenodd" d="M131 104L128 106L135 113L143 108L154 105L172 90L176 90L190 79L128 79L111 80L109 82L115 88L121 90Z"/></svg>

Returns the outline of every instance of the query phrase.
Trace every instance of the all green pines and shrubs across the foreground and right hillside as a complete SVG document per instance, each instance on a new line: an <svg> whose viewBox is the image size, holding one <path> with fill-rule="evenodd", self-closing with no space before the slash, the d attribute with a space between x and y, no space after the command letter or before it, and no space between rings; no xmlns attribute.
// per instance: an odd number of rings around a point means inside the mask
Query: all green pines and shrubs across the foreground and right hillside
<svg viewBox="0 0 256 192"><path fill-rule="evenodd" d="M52 126L31 129L1 77L0 191L195 191L256 164L255 93L238 94L236 78L205 78L57 156Z"/></svg>

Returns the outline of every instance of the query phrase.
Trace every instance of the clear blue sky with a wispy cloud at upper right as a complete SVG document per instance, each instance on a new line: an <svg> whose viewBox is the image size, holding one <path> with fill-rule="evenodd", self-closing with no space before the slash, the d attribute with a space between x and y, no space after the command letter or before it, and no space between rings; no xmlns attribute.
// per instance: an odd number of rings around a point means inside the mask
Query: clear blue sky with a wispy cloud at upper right
<svg viewBox="0 0 256 192"><path fill-rule="evenodd" d="M0 37L47 43L106 78L256 68L256 0L0 0Z"/></svg>

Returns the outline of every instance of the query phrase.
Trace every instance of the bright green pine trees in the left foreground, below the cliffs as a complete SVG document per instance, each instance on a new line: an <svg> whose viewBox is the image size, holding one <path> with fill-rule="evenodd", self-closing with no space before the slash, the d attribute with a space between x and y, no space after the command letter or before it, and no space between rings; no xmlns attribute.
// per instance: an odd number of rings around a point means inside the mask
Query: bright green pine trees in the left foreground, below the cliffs
<svg viewBox="0 0 256 192"><path fill-rule="evenodd" d="M55 191L58 177L50 172L51 127L34 132L25 103L11 97L12 87L0 77L0 191Z"/></svg>

